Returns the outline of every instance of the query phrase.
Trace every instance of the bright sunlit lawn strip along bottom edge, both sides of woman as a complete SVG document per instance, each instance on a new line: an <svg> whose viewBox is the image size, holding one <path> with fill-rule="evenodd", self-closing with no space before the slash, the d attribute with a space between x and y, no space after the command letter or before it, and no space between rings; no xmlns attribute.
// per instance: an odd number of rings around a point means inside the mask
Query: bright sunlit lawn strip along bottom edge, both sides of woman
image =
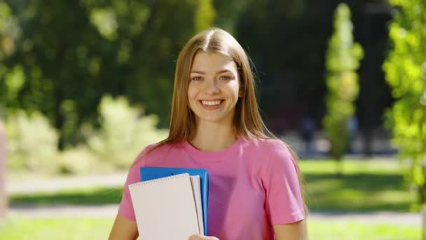
<svg viewBox="0 0 426 240"><path fill-rule="evenodd" d="M10 218L0 225L0 239L107 239L111 218ZM309 239L420 239L420 228L363 222L308 220Z"/></svg>

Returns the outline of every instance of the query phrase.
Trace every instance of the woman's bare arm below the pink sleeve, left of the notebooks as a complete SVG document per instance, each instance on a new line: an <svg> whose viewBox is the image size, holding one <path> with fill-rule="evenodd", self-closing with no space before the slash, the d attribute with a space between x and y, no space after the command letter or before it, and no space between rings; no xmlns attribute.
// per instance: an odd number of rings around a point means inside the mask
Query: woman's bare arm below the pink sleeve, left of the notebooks
<svg viewBox="0 0 426 240"><path fill-rule="evenodd" d="M109 234L109 240L135 240L137 236L139 236L139 233L137 232L136 222L117 214L111 233Z"/></svg>

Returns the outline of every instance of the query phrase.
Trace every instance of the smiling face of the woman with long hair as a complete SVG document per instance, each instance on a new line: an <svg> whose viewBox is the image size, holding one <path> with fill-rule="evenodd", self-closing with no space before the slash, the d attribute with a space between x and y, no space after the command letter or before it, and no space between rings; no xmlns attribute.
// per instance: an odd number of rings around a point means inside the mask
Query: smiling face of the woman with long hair
<svg viewBox="0 0 426 240"><path fill-rule="evenodd" d="M235 62L220 53L200 51L193 60L189 81L189 107L197 123L231 125L241 95Z"/></svg>

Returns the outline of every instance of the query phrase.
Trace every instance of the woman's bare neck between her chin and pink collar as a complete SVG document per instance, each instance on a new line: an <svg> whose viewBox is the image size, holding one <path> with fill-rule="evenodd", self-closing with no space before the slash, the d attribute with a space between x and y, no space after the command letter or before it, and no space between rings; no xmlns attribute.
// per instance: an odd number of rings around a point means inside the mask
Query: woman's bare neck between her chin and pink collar
<svg viewBox="0 0 426 240"><path fill-rule="evenodd" d="M191 145L200 151L219 152L227 149L237 140L232 126L220 124L208 125L198 125L195 137L190 141Z"/></svg>

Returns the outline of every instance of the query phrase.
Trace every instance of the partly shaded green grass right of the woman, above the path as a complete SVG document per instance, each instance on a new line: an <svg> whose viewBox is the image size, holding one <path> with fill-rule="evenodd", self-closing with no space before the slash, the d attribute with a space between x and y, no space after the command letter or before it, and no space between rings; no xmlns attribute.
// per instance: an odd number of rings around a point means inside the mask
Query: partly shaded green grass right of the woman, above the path
<svg viewBox="0 0 426 240"><path fill-rule="evenodd" d="M300 168L311 211L417 211L399 161L346 160L341 176L334 161L303 160Z"/></svg>

